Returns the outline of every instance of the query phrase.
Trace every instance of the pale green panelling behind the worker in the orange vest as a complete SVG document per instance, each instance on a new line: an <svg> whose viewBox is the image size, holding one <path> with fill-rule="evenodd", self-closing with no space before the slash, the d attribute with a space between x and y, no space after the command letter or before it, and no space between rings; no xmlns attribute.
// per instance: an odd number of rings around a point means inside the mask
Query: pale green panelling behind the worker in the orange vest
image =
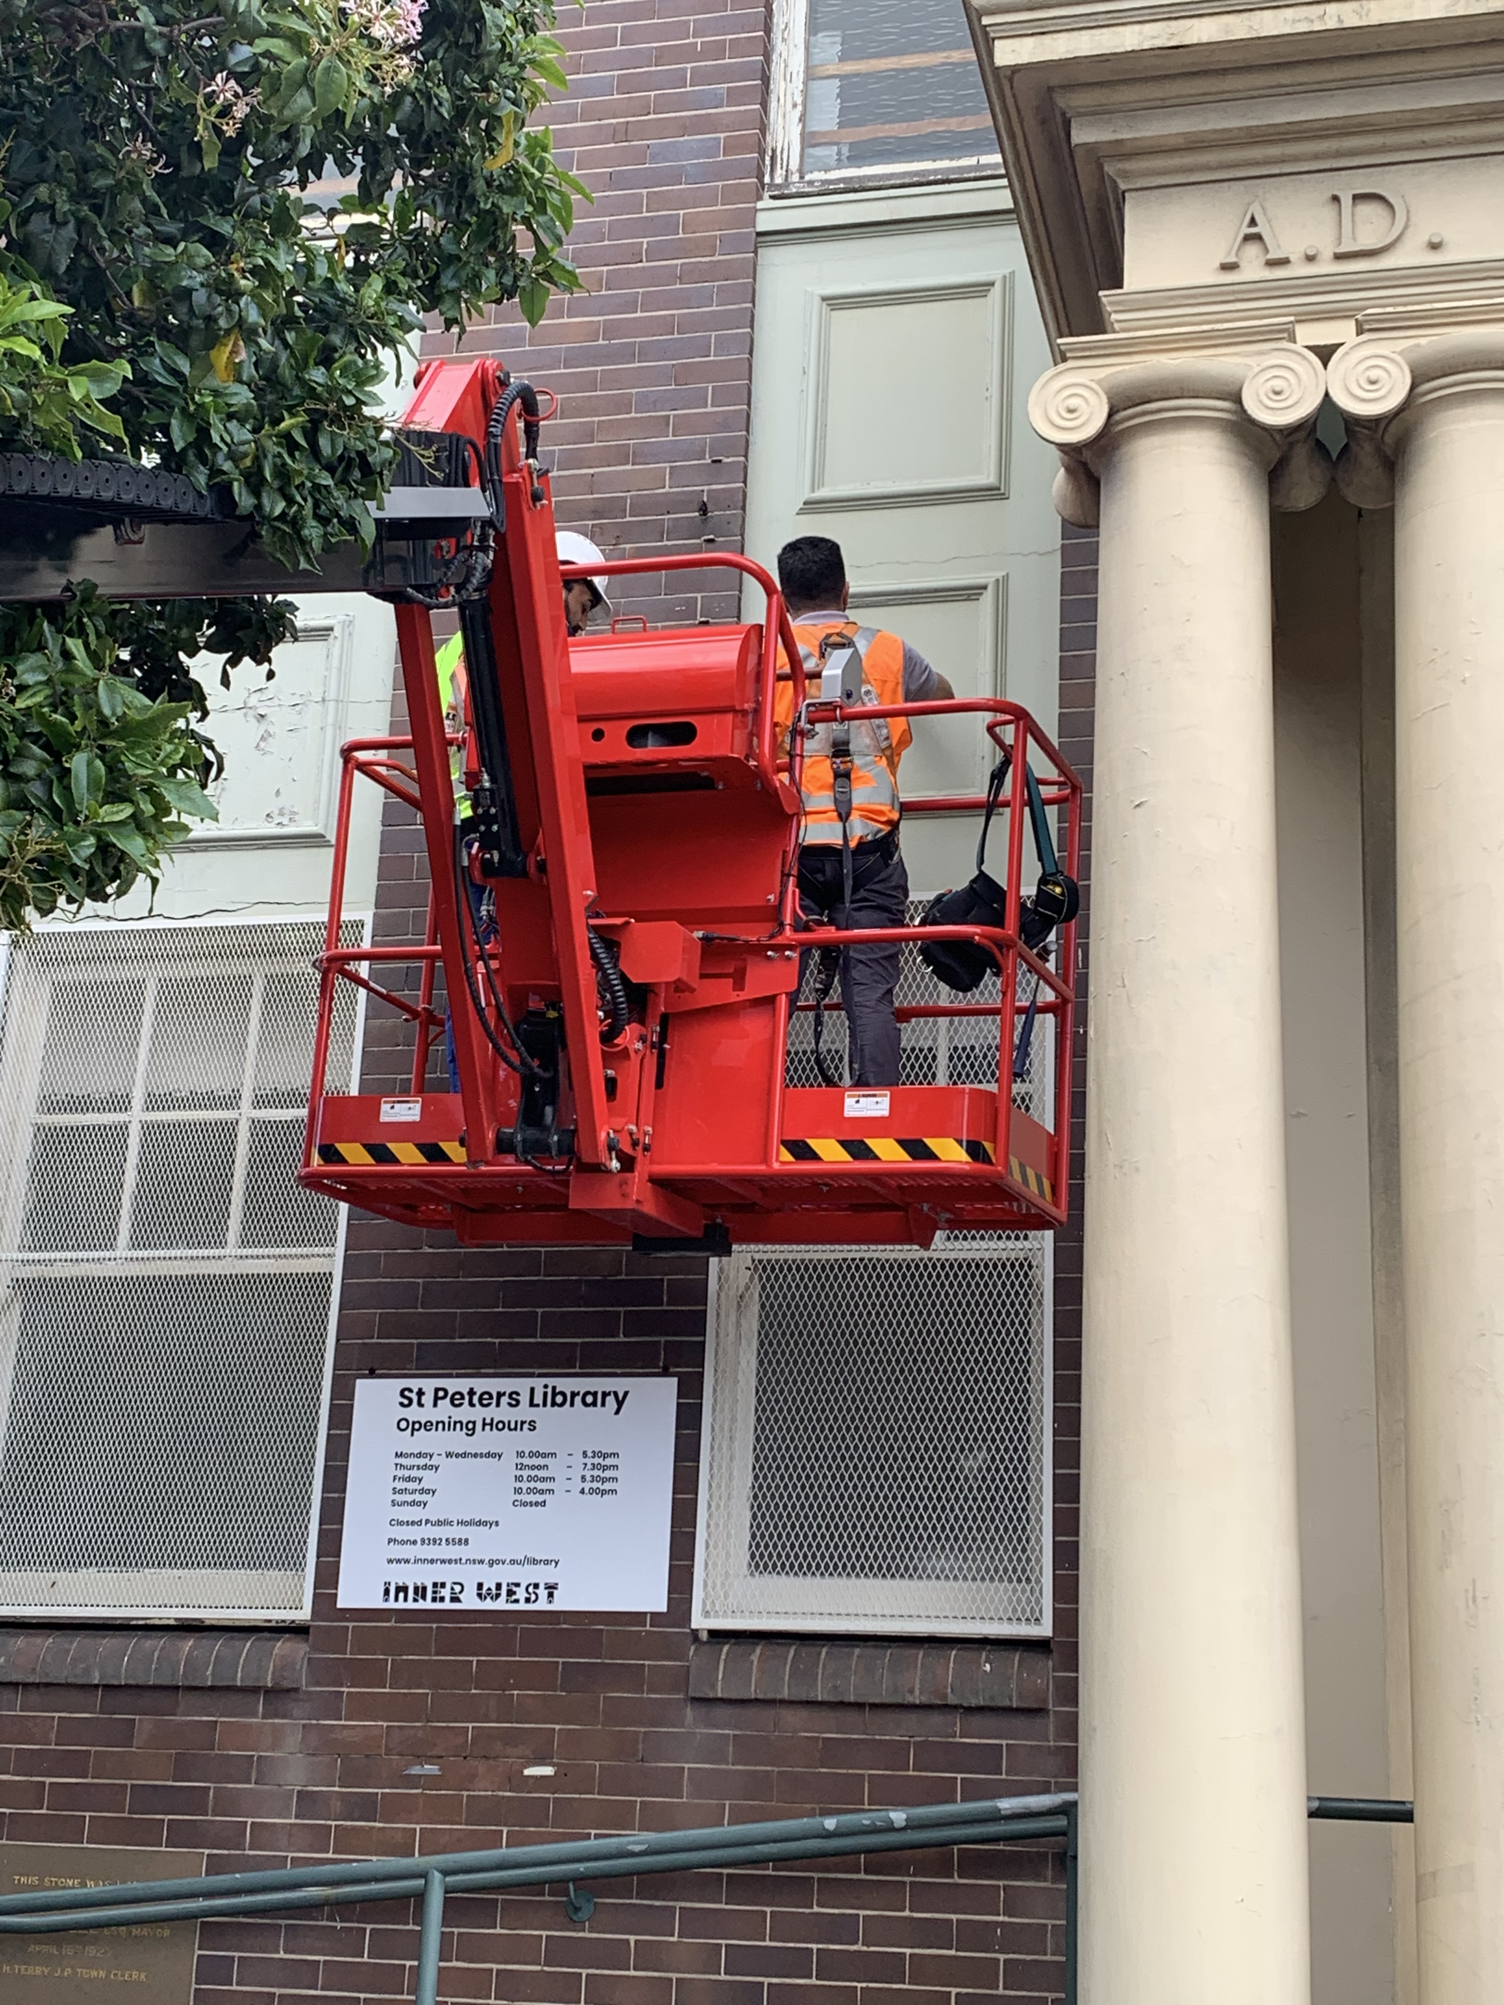
<svg viewBox="0 0 1504 2005"><path fill-rule="evenodd" d="M836 537L864 624L902 634L959 696L1009 696L1053 734L1055 455L1025 417L1051 357L1001 200L766 205L746 549L772 567L794 535ZM975 796L989 766L973 722L920 724L904 794ZM975 822L910 816L914 890L965 878L975 840Z"/></svg>

